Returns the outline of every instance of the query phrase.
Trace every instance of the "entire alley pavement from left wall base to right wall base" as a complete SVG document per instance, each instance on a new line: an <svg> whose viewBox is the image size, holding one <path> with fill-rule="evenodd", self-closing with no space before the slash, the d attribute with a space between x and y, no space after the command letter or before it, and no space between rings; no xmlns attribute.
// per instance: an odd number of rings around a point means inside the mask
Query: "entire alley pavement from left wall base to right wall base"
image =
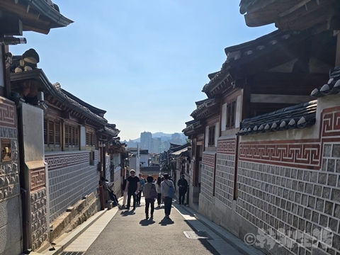
<svg viewBox="0 0 340 255"><path fill-rule="evenodd" d="M164 218L163 209L155 210L154 219L145 220L143 198L135 211L113 208L98 212L57 239L55 250L40 253L139 254L136 251L148 249L148 254L179 254L174 251L183 247L185 254L262 254L191 208L173 205L171 220Z"/></svg>

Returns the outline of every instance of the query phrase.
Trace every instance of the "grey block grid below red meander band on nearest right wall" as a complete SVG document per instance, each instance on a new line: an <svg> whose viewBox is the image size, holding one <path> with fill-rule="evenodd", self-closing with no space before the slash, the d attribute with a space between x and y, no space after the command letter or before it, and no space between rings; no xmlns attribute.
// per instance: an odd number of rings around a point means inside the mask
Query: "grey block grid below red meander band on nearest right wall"
<svg viewBox="0 0 340 255"><path fill-rule="evenodd" d="M270 229L273 239L285 242L293 254L312 252L293 233L329 254L340 252L340 144L325 144L323 151L321 171L239 162L237 213ZM331 244L315 238L315 231L332 234Z"/></svg>

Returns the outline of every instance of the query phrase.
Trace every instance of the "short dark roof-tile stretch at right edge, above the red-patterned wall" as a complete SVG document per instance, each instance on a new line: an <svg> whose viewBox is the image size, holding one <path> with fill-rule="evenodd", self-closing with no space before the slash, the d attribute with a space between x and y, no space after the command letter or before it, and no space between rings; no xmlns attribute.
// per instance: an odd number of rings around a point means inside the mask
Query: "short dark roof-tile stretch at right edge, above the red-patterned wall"
<svg viewBox="0 0 340 255"><path fill-rule="evenodd" d="M319 89L314 89L310 96L320 98L323 96L340 93L340 67L334 67L329 71L329 81Z"/></svg>

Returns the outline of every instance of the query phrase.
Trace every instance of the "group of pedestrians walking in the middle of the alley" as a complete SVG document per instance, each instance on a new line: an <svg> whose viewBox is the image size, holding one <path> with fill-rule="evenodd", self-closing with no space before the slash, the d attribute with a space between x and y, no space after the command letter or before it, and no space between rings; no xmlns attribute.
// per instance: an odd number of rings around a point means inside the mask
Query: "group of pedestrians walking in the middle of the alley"
<svg viewBox="0 0 340 255"><path fill-rule="evenodd" d="M179 179L177 183L177 185L179 186L179 204L184 204L184 198L188 187L188 182L184 177L185 177L184 175L181 175L181 179ZM105 178L102 179L105 180ZM172 198L174 196L174 182L169 178L169 174L164 174L164 176L162 177L159 176L157 178L157 181L155 181L152 176L147 176L147 180L145 182L145 179L142 177L142 174L136 176L135 170L131 169L130 176L127 174L125 180L123 181L122 208L130 210L132 198L132 208L133 210L135 210L136 205L140 205L142 192L144 193L145 197L146 219L149 219L149 215L151 218L154 217L155 198L157 198L157 204L159 207L161 206L162 202L164 203L165 217L166 218L170 217Z"/></svg>

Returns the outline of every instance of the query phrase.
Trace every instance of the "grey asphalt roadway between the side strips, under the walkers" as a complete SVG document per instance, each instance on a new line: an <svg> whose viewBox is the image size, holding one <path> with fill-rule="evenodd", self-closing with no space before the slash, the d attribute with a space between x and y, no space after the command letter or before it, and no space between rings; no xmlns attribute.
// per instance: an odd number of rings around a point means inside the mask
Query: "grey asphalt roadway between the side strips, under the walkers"
<svg viewBox="0 0 340 255"><path fill-rule="evenodd" d="M86 255L219 254L208 240L188 239L183 233L193 230L174 208L170 219L164 217L163 209L157 208L154 219L146 220L143 203L135 211L119 210Z"/></svg>

